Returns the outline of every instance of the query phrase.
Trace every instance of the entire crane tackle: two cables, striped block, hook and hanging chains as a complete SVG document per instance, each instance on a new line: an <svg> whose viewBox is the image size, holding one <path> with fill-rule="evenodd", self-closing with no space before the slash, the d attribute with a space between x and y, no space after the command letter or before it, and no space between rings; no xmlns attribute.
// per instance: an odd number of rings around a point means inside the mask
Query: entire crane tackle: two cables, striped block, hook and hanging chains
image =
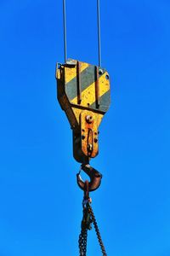
<svg viewBox="0 0 170 256"><path fill-rule="evenodd" d="M97 0L99 64L92 65L67 58L66 12L65 0L63 0L65 62L58 62L56 65L57 98L71 125L73 156L82 164L81 171L77 173L77 184L84 192L81 233L78 241L80 256L85 256L87 253L88 230L92 229L92 224L101 251L106 255L89 196L89 193L98 189L101 183L102 174L89 163L99 154L99 125L111 101L110 75L104 67L101 67L99 6ZM88 174L90 182L82 180L82 171Z"/></svg>

